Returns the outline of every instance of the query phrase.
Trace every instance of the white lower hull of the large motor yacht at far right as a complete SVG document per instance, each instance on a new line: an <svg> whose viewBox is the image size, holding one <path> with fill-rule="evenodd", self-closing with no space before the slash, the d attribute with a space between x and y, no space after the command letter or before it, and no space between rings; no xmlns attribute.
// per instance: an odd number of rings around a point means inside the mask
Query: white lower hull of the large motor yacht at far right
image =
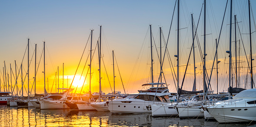
<svg viewBox="0 0 256 127"><path fill-rule="evenodd" d="M256 121L256 106L208 108L207 110L219 123Z"/></svg>

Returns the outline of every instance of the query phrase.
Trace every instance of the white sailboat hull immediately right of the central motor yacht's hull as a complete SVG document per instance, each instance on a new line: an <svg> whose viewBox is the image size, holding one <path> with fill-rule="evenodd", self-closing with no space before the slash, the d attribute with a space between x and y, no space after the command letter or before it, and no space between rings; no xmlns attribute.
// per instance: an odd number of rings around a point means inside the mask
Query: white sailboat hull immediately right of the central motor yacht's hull
<svg viewBox="0 0 256 127"><path fill-rule="evenodd" d="M153 116L177 116L175 105L151 105Z"/></svg>

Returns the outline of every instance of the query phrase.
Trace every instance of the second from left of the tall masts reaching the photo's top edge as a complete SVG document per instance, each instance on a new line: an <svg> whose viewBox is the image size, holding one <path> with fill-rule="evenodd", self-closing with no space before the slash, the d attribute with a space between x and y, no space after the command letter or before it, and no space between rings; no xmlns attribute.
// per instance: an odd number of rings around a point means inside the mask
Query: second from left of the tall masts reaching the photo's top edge
<svg viewBox="0 0 256 127"><path fill-rule="evenodd" d="M204 98L206 98L206 0L204 0L204 23L203 23L203 55L204 55L204 59L203 59L203 96Z"/></svg>

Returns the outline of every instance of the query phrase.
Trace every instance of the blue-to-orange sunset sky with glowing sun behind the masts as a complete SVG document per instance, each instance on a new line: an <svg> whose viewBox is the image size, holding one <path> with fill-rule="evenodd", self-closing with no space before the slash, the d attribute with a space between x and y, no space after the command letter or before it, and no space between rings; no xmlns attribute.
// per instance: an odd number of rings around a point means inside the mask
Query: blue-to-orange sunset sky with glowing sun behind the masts
<svg viewBox="0 0 256 127"><path fill-rule="evenodd" d="M191 30L191 14L195 28L197 27L198 41L195 45L195 65L196 69L196 84L197 90L203 89L202 85L202 60L199 57L199 47L203 50L203 12L199 19L200 11L203 5L203 0L180 0L180 85L184 76L190 49L192 45L192 30ZM150 32L149 25L152 25L153 35L153 73L154 82L158 82L160 74L160 63L157 54L160 53L160 35L159 27L162 27L163 38L167 42L170 25L172 22L173 9L175 0L1 0L0 1L0 81L1 91L3 91L3 76L4 61L6 63L7 74L12 75L11 85L14 81L14 68L16 60L17 70L23 60L23 76L26 76L27 71L27 42L30 39L30 89L33 86L33 77L35 71L35 57L32 54L37 44L37 76L36 76L36 92L42 93L44 87L43 78L43 41L46 42L46 89L48 92L56 92L55 84L59 87L64 87L71 84L71 81L76 73L76 69L81 59L80 66L74 79L72 88L78 85L78 92L87 92L89 90L89 73L88 61L86 59L90 55L90 33L93 30L92 48L95 51L92 59L92 92L99 92L99 62L96 43L100 35L100 25L102 25L102 59L104 65L101 65L102 73L102 91L109 93L113 91L113 56L114 51L116 61L115 67L115 91L124 93L123 88L127 93L137 92L142 84L150 82ZM255 1L251 1L252 6L252 41L253 41L253 56L255 56L255 23L254 13L256 9ZM211 68L213 66L214 53L216 51L215 39L219 38L219 32L223 20L223 15L226 7L226 0L206 0L206 68L210 77ZM244 49L241 50L240 63L243 68L241 70L241 86L248 87L250 78L246 78L249 72L246 55L249 55L249 17L248 17L248 1L233 0L232 22L234 15L237 15L239 29L237 30L237 40L243 39ZM228 1L226 14L223 22L223 30L219 39L218 60L219 65L219 91L226 90L228 87L228 62L229 57L226 51L229 50L229 17L230 17L230 1ZM175 76L172 75L172 66L176 71L177 54L177 10L174 11L173 24L168 39L168 51L170 59L165 56L163 64L163 72L166 83L169 85L170 92L176 91ZM232 28L232 41L235 41L234 28ZM162 39L163 39L162 38ZM162 40L162 57L164 54L164 46ZM86 45L86 43L88 44ZM156 44L156 45L155 45ZM200 46L198 45L200 44ZM233 44L233 43L232 43ZM95 49L95 50L94 50ZM234 44L232 46L234 54ZM157 50L157 51L156 51ZM26 51L26 53L25 53ZM246 53L244 52L246 51ZM23 59L24 56L24 59ZM168 55L169 56L169 55ZM41 59L40 59L41 57ZM233 60L235 57L233 55ZM249 56L248 56L249 59ZM90 57L89 57L90 60ZM172 60L172 63L170 63ZM64 67L63 67L64 63ZM103 63L103 62L102 62ZM254 62L253 62L254 63ZM13 72L10 72L10 65ZM86 66L85 66L86 65ZM255 64L253 64L255 65ZM119 71L118 71L118 68ZM234 66L234 64L233 64ZM59 80L56 80L55 73L59 67ZM83 71L83 67L85 67ZM64 69L63 69L64 68ZM214 65L214 68L215 65ZM63 82L64 70L64 82ZM184 89L192 90L194 75L193 75L193 56L190 58L188 72L185 77ZM120 72L120 74L119 74ZM243 73L242 73L243 72ZM177 72L176 72L177 73ZM233 73L235 69L233 67ZM11 76L10 76L11 77ZM80 78L81 77L81 78ZM86 77L85 86L81 90L83 81ZM233 77L235 75L233 74ZM48 78L48 82L47 82ZM123 81L123 85L121 82ZM8 77L7 77L8 79ZM58 79L58 78L57 78ZM82 80L83 79L83 80ZM173 80L174 79L174 80ZM3 81L4 80L4 81ZM9 78L10 80L10 78ZM164 80L164 79L163 79ZM213 70L211 79L212 89L216 92L216 69ZM235 80L233 78L233 80ZM59 81L59 83L58 83ZM21 77L17 79L18 87L21 87ZM165 81L163 81L165 82ZM246 86L247 83L247 86ZM233 83L234 84L234 83ZM110 88L111 86L111 88ZM27 79L24 82L24 88L27 89ZM34 88L34 86L33 86ZM32 94L34 91L32 90Z"/></svg>

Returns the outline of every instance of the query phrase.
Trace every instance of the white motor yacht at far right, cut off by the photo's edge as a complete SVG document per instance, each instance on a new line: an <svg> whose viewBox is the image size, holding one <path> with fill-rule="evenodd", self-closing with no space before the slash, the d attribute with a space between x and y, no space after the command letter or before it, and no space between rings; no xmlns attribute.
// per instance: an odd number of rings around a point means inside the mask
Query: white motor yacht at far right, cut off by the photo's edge
<svg viewBox="0 0 256 127"><path fill-rule="evenodd" d="M256 89L246 89L206 110L219 123L256 121Z"/></svg>

